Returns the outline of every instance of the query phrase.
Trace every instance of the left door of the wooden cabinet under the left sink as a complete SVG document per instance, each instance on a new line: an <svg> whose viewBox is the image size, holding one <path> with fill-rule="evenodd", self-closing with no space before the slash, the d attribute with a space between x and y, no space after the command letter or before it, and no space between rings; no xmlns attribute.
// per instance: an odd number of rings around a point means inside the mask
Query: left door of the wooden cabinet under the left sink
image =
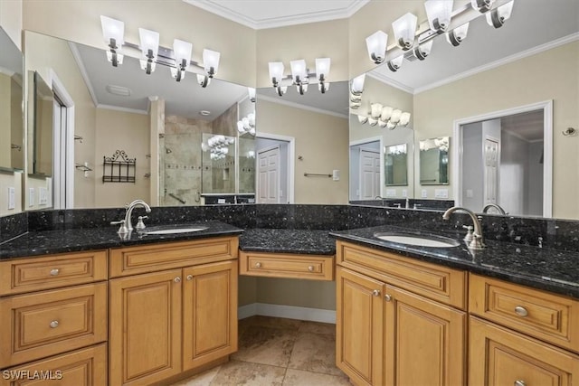
<svg viewBox="0 0 579 386"><path fill-rule="evenodd" d="M181 269L110 280L109 383L181 372Z"/></svg>

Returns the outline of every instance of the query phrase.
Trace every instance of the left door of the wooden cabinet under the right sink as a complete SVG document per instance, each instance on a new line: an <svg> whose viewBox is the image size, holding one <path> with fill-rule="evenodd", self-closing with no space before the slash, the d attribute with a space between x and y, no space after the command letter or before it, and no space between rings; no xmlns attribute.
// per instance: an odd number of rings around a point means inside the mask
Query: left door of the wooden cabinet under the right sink
<svg viewBox="0 0 579 386"><path fill-rule="evenodd" d="M341 267L336 280L336 365L356 385L381 385L384 283Z"/></svg>

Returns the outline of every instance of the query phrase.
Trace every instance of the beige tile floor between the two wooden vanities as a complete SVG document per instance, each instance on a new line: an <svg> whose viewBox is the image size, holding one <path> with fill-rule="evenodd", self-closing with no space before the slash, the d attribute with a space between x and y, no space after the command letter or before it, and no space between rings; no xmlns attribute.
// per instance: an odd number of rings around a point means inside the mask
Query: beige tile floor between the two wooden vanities
<svg viewBox="0 0 579 386"><path fill-rule="evenodd" d="M173 386L350 385L336 367L336 325L252 316L239 321L231 361Z"/></svg>

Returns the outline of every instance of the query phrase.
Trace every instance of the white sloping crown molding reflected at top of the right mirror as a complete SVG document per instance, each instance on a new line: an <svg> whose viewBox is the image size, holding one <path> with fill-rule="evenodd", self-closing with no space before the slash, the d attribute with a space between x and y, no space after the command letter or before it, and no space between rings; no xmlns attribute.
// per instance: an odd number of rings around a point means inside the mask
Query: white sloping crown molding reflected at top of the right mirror
<svg viewBox="0 0 579 386"><path fill-rule="evenodd" d="M441 87L445 84L451 83L456 80L461 80L463 78L468 78L472 75L478 74L479 72L489 71L492 69L496 69L497 67L503 66L513 61L518 61L520 59L527 58L528 56L536 55L537 53L546 52L548 50L554 49L556 47L565 45L570 42L575 42L579 40L579 33L571 33L570 35L564 36L560 39L556 39L552 42L546 42L545 44L537 45L536 47L530 48L528 50L517 52L513 55L507 56L505 58L499 59L498 61L491 61L485 65L476 67L469 71L460 72L460 74L453 75L449 78L435 81L431 84L426 86L417 87L414 89L413 94L420 94L423 91L427 91L429 89L436 89L437 87Z"/></svg>

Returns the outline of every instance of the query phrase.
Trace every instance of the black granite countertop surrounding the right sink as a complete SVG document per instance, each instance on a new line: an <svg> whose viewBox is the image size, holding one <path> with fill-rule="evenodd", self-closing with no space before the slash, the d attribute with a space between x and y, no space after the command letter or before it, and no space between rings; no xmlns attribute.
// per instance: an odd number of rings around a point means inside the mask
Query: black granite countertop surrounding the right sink
<svg viewBox="0 0 579 386"><path fill-rule="evenodd" d="M476 251L470 251L466 246L419 247L377 239L375 233L383 231L412 232L426 236L431 234L393 226L379 226L350 231L332 231L330 235L337 240L352 241L369 248L395 252L413 259L465 269L473 273L579 298L579 252L492 240L485 241L487 248ZM460 240L463 235L451 237Z"/></svg>

